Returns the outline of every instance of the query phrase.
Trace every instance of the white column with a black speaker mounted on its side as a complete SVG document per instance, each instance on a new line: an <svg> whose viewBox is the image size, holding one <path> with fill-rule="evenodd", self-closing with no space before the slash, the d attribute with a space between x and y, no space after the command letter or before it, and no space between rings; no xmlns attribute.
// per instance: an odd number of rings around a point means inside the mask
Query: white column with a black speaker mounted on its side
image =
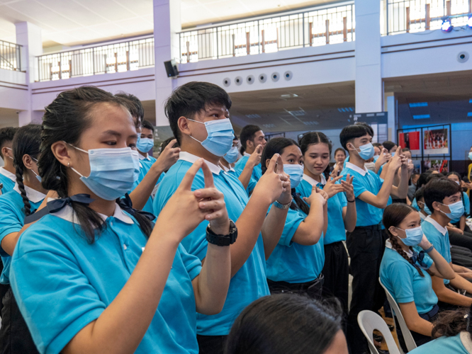
<svg viewBox="0 0 472 354"><path fill-rule="evenodd" d="M164 114L164 103L174 89L175 80L167 77L164 62L180 58L179 31L181 30L180 0L154 2L154 62L156 81L156 125L169 126ZM179 60L177 60L179 62Z"/></svg>

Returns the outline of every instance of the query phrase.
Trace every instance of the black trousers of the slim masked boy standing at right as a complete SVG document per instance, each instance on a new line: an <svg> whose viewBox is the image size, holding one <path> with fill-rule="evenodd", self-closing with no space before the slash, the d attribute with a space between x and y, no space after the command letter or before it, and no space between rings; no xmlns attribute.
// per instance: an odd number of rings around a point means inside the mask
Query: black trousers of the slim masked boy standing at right
<svg viewBox="0 0 472 354"><path fill-rule="evenodd" d="M386 299L378 282L380 264L385 251L386 233L378 227L356 227L347 233L347 250L351 257L352 301L347 318L347 343L351 354L369 353L366 338L357 324L363 310L378 312Z"/></svg>

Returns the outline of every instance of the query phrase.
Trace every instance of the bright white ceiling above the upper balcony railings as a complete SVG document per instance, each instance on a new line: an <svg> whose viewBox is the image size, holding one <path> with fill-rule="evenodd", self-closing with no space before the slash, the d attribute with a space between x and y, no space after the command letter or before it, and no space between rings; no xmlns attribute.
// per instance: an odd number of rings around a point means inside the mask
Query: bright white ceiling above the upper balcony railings
<svg viewBox="0 0 472 354"><path fill-rule="evenodd" d="M328 2L181 0L181 23L188 28ZM0 40L16 42L14 24L22 21L42 28L43 47L52 50L150 34L154 28L152 0L0 0Z"/></svg>

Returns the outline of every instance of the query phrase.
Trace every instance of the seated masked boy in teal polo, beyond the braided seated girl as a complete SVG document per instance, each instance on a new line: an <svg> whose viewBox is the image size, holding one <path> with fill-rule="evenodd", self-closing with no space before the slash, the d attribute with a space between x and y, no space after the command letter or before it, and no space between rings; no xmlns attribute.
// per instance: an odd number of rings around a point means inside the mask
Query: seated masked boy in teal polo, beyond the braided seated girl
<svg viewBox="0 0 472 354"><path fill-rule="evenodd" d="M437 277L432 278L439 307L451 309L450 305L471 306L472 298L459 294L456 289L466 290L472 294L471 282L464 279L464 277L472 279L472 270L451 263L451 245L446 229L451 219L463 215L461 187L447 178L434 178L425 185L424 198L425 205L432 213L422 222L423 232L456 272L456 278L450 282Z"/></svg>

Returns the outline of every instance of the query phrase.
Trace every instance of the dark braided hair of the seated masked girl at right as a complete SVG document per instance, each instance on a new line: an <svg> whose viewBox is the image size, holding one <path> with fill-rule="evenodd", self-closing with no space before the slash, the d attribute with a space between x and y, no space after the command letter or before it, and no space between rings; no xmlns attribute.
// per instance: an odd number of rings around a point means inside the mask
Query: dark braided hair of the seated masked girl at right
<svg viewBox="0 0 472 354"><path fill-rule="evenodd" d="M388 207L385 208L383 212L382 222L385 226L386 232L388 233L390 243L392 244L392 249L397 251L400 256L405 258L405 260L408 261L408 263L410 263L413 267L415 267L418 273L420 273L420 275L424 277L425 275L423 274L421 268L418 267L416 263L412 261L412 258L408 257L408 254L403 251L402 247L398 243L397 236L394 236L389 230L392 226L398 227L398 225L403 222L405 217L407 217L410 212L417 212L417 210L414 207L410 207L410 205L406 205L401 202L394 202L393 204L390 204L388 205ZM412 250L412 247L410 247L410 250Z"/></svg>

